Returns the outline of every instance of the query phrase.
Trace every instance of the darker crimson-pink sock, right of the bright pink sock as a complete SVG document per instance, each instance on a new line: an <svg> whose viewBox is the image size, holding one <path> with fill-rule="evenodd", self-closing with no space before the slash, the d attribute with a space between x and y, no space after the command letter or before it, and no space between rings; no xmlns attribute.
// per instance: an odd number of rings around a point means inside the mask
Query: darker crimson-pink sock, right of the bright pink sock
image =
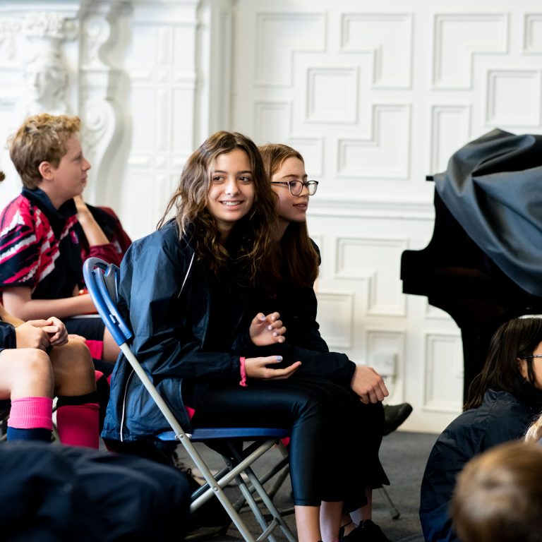
<svg viewBox="0 0 542 542"><path fill-rule="evenodd" d="M98 449L98 404L66 404L56 409L56 425L62 444Z"/></svg>

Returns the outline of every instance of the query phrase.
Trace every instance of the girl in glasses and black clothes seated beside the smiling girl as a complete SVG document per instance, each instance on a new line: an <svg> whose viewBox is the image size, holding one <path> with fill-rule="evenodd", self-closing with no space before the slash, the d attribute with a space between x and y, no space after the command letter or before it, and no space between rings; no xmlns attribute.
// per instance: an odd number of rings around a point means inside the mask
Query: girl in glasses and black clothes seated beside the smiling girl
<svg viewBox="0 0 542 542"><path fill-rule="evenodd" d="M373 368L358 366L345 354L330 352L320 336L313 289L320 253L308 236L306 224L309 196L315 193L318 183L307 180L303 157L293 148L270 144L260 147L260 152L277 195L282 281L267 292L262 303L265 311L280 313L287 329L286 342L279 345L279 351L283 359L301 360L292 380L316 378L327 386L340 387L339 397L354 399L352 402L344 399L343 409L348 413L344 432L361 435L354 461L362 471L363 483L356 487L357 495L345 499L344 505L355 523L342 515L342 505L324 504L321 518L324 540L337 540L340 536L341 540L351 542L361 539L384 542L388 539L371 521L371 493L373 488L388 483L378 459L383 435L382 400L388 395L387 388Z"/></svg>

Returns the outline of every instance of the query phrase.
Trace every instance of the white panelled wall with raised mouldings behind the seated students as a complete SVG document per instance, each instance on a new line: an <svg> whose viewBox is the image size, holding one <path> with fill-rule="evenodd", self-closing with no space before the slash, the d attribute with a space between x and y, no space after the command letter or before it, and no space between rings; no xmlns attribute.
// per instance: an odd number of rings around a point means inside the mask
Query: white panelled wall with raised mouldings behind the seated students
<svg viewBox="0 0 542 542"><path fill-rule="evenodd" d="M296 147L320 181L308 223L330 347L414 406L403 428L440 431L459 413L459 330L402 294L400 260L432 236L427 174L494 127L541 133L539 0L1 0L1 141L32 112L44 50L83 119L85 198L133 239L213 131ZM19 181L4 147L0 159L5 205Z"/></svg>

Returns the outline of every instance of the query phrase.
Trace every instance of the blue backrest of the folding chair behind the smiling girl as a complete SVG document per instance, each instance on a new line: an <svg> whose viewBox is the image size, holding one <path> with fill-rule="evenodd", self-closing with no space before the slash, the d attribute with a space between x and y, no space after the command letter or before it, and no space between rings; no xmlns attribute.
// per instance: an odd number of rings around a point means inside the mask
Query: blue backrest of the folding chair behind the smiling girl
<svg viewBox="0 0 542 542"><path fill-rule="evenodd" d="M83 278L88 293L104 324L121 346L133 337L133 332L116 307L116 291L120 279L119 267L100 258L88 258L83 264Z"/></svg>

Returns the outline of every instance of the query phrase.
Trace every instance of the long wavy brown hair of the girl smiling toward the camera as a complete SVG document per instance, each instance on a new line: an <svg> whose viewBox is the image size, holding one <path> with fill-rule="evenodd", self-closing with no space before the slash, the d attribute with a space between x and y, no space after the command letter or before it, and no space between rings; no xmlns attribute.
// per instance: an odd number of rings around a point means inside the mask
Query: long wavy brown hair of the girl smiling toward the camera
<svg viewBox="0 0 542 542"><path fill-rule="evenodd" d="M215 217L207 209L207 194L215 160L219 155L235 149L243 150L250 159L255 198L251 211L236 223L224 246L220 242ZM219 131L207 138L188 158L179 185L158 227L162 227L174 210L180 236L191 237L198 259L205 264L207 270L219 275L227 267L231 256L234 256L239 282L260 284L279 276L275 265L264 265L264 260L267 262L267 256L275 250L276 201L277 196L271 189L255 143L241 133ZM232 247L232 244L236 246ZM235 252L230 253L228 247Z"/></svg>

